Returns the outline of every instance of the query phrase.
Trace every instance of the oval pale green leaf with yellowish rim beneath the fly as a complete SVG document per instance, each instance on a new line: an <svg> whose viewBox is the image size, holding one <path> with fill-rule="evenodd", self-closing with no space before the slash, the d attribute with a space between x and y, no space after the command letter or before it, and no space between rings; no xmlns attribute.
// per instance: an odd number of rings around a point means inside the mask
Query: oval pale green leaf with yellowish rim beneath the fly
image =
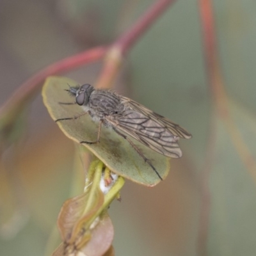
<svg viewBox="0 0 256 256"><path fill-rule="evenodd" d="M76 86L77 83L65 77L48 77L43 88L44 104L53 120L73 117L83 113L83 109L75 105L63 105L59 102L74 102L65 89ZM63 120L57 122L65 135L79 143L80 141L95 141L98 125L92 121L90 115L84 115L76 120ZM164 179L170 169L169 158L156 153L154 150L142 145L131 138L141 152L152 161L157 172ZM141 156L131 147L127 140L111 129L102 127L100 142L94 145L84 145L97 156L112 171L126 179L146 186L155 186L161 180Z"/></svg>

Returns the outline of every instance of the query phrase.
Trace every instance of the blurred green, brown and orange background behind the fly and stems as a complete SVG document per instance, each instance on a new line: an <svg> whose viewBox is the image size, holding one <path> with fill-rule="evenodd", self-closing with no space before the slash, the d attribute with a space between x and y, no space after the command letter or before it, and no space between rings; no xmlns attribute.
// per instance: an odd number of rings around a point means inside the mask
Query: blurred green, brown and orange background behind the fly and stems
<svg viewBox="0 0 256 256"><path fill-rule="evenodd" d="M0 104L41 68L111 44L152 3L1 0ZM212 7L230 114L252 159L241 160L243 150L214 111L198 1L178 0L127 54L115 88L186 127L193 139L180 141L184 156L171 161L166 180L154 188L128 181L122 202L111 204L116 255L255 255L256 2L216 0ZM65 76L93 84L101 64ZM60 207L83 184L74 182L74 144L51 120L41 95L31 104L26 130L19 152L13 158L9 148L1 164L3 256L51 255Z"/></svg>

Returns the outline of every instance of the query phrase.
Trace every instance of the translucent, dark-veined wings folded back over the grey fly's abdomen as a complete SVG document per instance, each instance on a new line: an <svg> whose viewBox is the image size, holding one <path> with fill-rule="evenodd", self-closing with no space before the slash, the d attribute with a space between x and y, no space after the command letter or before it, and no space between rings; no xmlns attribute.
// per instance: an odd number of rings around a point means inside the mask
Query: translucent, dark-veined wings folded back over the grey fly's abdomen
<svg viewBox="0 0 256 256"><path fill-rule="evenodd" d="M108 116L108 122L164 156L182 156L177 141L180 134L188 138L188 132L133 100L125 97L122 100L127 110L122 115Z"/></svg>

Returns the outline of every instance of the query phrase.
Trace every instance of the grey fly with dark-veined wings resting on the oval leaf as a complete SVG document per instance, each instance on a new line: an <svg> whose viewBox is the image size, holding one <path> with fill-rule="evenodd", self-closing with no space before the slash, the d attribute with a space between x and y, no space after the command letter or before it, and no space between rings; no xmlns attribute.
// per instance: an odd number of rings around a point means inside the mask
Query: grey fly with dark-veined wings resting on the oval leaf
<svg viewBox="0 0 256 256"><path fill-rule="evenodd" d="M163 180L161 175L159 175L151 161L143 155L127 135L159 154L173 158L182 156L177 143L179 138L191 138L189 132L171 120L111 90L95 89L90 84L83 84L82 86L69 86L66 91L76 97L76 102L61 104L78 104L85 111L79 116L88 113L94 122L99 123L97 140L81 141L80 143L99 143L102 124L111 127L117 134L129 141L134 150L140 154L161 180ZM55 122L72 120L79 116L60 118Z"/></svg>

